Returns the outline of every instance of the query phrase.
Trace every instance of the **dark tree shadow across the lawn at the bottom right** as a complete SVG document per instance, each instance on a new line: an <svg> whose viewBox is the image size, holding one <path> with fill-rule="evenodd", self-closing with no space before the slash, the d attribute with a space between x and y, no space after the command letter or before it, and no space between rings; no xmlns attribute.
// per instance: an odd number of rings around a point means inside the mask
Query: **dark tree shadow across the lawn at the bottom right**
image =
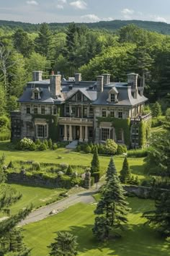
<svg viewBox="0 0 170 256"><path fill-rule="evenodd" d="M112 237L104 243L97 242L92 234L92 228L92 225L70 227L71 234L78 236L80 255L88 252L88 255L97 256L170 256L169 248L164 240L143 224L127 225L125 231L122 231L122 238Z"/></svg>

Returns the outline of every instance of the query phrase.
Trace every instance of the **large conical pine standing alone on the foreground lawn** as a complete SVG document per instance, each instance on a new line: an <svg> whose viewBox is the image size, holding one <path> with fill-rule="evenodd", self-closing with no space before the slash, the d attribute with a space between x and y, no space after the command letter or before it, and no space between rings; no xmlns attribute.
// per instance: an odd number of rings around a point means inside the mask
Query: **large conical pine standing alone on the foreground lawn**
<svg viewBox="0 0 170 256"><path fill-rule="evenodd" d="M97 209L94 210L97 218L92 229L94 236L101 241L108 239L111 231L116 234L117 229L123 229L122 224L128 221L128 202L125 201L125 191L120 184L113 159L110 160L108 170L107 183Z"/></svg>

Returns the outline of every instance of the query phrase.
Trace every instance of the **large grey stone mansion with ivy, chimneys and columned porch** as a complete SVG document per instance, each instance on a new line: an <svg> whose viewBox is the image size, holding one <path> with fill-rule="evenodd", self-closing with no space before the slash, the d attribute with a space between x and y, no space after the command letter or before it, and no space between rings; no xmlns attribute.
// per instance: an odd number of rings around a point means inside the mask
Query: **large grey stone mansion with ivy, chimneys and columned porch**
<svg viewBox="0 0 170 256"><path fill-rule="evenodd" d="M138 74L128 74L128 82L110 82L109 74L97 81L81 81L81 74L68 80L51 74L49 80L42 80L42 72L32 72L32 82L19 98L20 111L12 112L12 140L112 139L138 148L141 136L148 136L147 129L140 134L140 124L147 127L151 119L150 114L143 115L148 99L143 83L138 83Z"/></svg>

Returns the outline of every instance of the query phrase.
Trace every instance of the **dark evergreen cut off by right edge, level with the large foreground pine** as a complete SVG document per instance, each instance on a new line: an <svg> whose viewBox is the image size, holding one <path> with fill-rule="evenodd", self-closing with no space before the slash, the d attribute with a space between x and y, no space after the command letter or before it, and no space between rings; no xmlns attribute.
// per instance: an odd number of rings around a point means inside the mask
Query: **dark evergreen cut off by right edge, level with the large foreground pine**
<svg viewBox="0 0 170 256"><path fill-rule="evenodd" d="M170 236L170 193L164 192L161 198L156 200L156 210L143 213L148 218L147 223L158 230L162 236Z"/></svg>

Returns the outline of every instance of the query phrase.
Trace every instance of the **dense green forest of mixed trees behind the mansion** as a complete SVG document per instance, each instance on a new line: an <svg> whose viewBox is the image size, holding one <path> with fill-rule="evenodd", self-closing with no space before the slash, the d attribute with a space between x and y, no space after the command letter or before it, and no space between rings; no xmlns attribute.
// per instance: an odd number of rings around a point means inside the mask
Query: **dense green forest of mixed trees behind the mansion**
<svg viewBox="0 0 170 256"><path fill-rule="evenodd" d="M110 73L111 80L126 81L129 72L146 77L146 96L169 107L170 35L144 30L136 25L116 32L91 29L71 23L65 30L51 30L42 23L37 32L0 28L0 116L17 108L17 98L32 71L52 70L63 77L81 72L83 80L96 80Z"/></svg>

